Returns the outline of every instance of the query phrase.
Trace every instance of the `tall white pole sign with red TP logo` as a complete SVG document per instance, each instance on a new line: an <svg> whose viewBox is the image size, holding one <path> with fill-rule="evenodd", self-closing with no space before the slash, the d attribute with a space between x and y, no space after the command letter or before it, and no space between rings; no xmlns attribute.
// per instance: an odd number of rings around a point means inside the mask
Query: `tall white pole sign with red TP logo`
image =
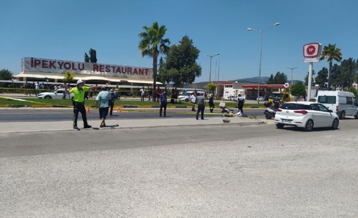
<svg viewBox="0 0 358 218"><path fill-rule="evenodd" d="M322 45L320 43L308 43L303 46L303 57L304 63L309 63L308 69L308 84L307 84L307 101L311 99L311 90L312 90L312 71L313 71L313 62L319 62L320 59L317 58L320 55L320 50Z"/></svg>

